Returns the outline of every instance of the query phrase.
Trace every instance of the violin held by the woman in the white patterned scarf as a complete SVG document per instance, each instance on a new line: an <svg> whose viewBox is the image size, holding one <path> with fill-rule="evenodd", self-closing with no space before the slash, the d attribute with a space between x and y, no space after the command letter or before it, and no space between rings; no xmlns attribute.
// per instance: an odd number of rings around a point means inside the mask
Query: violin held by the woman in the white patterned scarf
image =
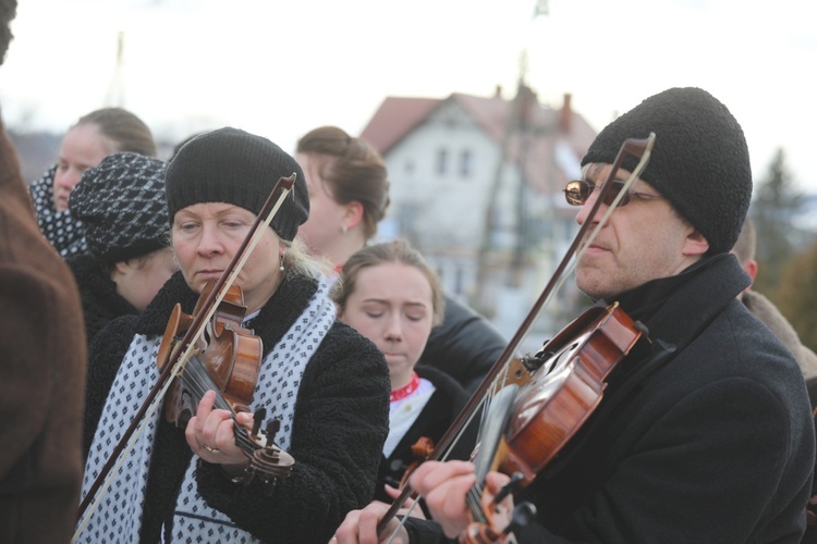
<svg viewBox="0 0 817 544"><path fill-rule="evenodd" d="M193 310L194 316L202 311L214 287L214 282L205 286ZM251 460L247 478L240 479L241 483L248 485L258 474L265 484L265 493L271 495L278 480L290 474L295 461L273 442L280 429L279 420L270 420L266 432L260 431L266 409L261 408L254 415L252 431L235 421L236 413L251 411L249 403L258 382L263 356L261 339L252 330L242 326L245 314L242 289L231 285L205 329L205 335L198 338L199 355L191 357L181 376L173 380L164 395L164 418L179 428L186 428L204 394L215 391L214 408L232 412L235 443ZM182 312L181 305L173 307L159 346L159 370L168 363L173 347L193 321L192 316Z"/></svg>

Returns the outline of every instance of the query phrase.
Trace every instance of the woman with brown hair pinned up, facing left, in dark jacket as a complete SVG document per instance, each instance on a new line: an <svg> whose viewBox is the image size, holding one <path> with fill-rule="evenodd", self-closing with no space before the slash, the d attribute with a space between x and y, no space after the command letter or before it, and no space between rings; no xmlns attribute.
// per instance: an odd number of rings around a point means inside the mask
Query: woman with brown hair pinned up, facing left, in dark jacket
<svg viewBox="0 0 817 544"><path fill-rule="evenodd" d="M377 234L389 206L389 181L380 153L336 126L308 132L295 159L306 175L312 213L298 230L309 251L328 258L336 273ZM483 316L446 296L442 323L431 331L418 367L434 367L473 393L507 346Z"/></svg>

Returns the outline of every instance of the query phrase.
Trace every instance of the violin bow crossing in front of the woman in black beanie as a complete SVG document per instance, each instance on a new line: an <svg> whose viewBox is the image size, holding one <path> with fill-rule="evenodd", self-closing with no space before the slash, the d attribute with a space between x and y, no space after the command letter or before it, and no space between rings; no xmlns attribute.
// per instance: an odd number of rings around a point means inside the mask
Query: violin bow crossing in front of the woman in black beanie
<svg viewBox="0 0 817 544"><path fill-rule="evenodd" d="M212 290L205 299L202 311L193 317L193 322L191 323L190 327L185 332L182 339L173 348L170 358L168 359L169 363L164 364L164 368L159 374L159 379L157 380L156 384L150 390L150 393L147 395L142 407L136 412L136 416L131 421L130 426L120 438L119 443L113 449L113 453L106 461L96 480L88 489L88 493L85 495L85 498L80 504L77 521L82 521L82 523L80 523L80 526L76 528L72 542L75 541L85 529L85 526L90 520L93 512L96 510L99 504L100 495L103 496L107 493L108 487L113 481L113 474L119 471L120 467L124 462L125 454L133 449L134 444L144 432L145 426L147 426L148 419L151 418L158 409L158 400L163 397L171 385L171 380L169 378L171 375L180 376L182 370L184 369L184 366L194 355L194 351L196 350L196 343L198 338L202 337L207 324L216 313L216 308L218 308L219 304L221 304L221 301L223 300L228 289L235 282L235 279L241 272L241 269L249 258L251 252L260 240L265 232L264 228L270 225L284 200L289 196L290 191L292 190L292 186L295 183L295 178L296 174L293 172L289 177L280 177L278 180L278 183L276 183L272 191L264 202L264 207L258 213L258 217L255 219L249 233L244 238L244 240L242 240L241 246L239 246L237 251L230 260L227 269L224 269L221 276L216 282ZM279 190L280 195L276 199L275 197L279 193ZM184 349L184 351L180 354L182 349ZM170 363L171 361L173 362Z"/></svg>

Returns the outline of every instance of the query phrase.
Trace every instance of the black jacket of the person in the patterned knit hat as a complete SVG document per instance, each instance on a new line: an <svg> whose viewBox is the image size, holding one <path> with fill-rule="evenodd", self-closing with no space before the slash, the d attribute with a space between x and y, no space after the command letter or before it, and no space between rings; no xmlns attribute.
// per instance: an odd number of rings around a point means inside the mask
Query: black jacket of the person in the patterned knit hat
<svg viewBox="0 0 817 544"><path fill-rule="evenodd" d="M102 269L99 260L88 254L83 254L69 257L65 261L80 287L88 344L114 318L138 314L138 310L125 297L117 293L117 284Z"/></svg>

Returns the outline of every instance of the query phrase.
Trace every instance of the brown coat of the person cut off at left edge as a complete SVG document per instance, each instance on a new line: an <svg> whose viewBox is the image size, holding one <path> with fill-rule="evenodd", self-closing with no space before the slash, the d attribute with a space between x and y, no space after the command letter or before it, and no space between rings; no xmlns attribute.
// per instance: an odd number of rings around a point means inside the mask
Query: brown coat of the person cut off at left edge
<svg viewBox="0 0 817 544"><path fill-rule="evenodd" d="M0 542L66 543L82 481L82 309L2 122L0 195Z"/></svg>

